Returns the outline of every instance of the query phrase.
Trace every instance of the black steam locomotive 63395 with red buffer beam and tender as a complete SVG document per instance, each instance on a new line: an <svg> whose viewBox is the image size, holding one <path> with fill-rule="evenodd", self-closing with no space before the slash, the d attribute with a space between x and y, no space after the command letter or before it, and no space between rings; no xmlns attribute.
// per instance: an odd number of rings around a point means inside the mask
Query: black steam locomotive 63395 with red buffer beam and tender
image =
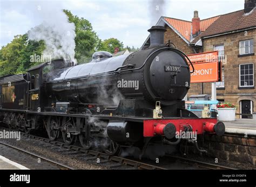
<svg viewBox="0 0 256 187"><path fill-rule="evenodd" d="M96 52L89 63L54 60L1 77L0 120L26 133L45 131L51 140L79 141L86 149L97 139L109 155L129 146L143 154L150 142L177 145L181 132L223 135L217 118L185 109L193 65L164 45L165 31L152 26L150 46L132 54Z"/></svg>

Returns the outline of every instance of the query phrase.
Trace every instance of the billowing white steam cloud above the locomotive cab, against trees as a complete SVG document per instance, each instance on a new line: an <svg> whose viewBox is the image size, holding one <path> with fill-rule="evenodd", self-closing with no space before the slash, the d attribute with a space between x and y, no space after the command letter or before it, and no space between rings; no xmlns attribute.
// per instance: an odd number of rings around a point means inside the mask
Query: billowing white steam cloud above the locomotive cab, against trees
<svg viewBox="0 0 256 187"><path fill-rule="evenodd" d="M76 63L75 24L69 22L68 16L57 4L41 2L36 7L36 16L43 22L31 28L28 32L29 39L45 42L43 55L50 55L53 60L64 59Z"/></svg>

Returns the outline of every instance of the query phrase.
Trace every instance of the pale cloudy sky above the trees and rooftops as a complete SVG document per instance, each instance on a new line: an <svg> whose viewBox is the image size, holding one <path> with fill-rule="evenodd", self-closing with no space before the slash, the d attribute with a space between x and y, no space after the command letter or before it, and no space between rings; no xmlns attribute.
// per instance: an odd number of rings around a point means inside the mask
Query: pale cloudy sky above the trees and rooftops
<svg viewBox="0 0 256 187"><path fill-rule="evenodd" d="M141 47L160 16L191 21L197 10L205 19L244 9L244 0L0 0L0 46L41 24L44 17L38 11L49 6L89 20L100 39L117 38L124 46Z"/></svg>

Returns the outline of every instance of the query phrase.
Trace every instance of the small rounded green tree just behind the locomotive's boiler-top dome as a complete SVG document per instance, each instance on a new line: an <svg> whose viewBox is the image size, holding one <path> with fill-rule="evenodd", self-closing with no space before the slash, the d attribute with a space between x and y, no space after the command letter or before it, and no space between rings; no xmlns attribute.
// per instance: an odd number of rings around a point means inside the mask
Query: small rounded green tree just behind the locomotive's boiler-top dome
<svg viewBox="0 0 256 187"><path fill-rule="evenodd" d="M119 51L122 51L124 49L123 42L120 42L116 38L109 38L104 41L100 41L101 43L98 45L98 51L107 51L110 53L114 53L114 48L118 47Z"/></svg>

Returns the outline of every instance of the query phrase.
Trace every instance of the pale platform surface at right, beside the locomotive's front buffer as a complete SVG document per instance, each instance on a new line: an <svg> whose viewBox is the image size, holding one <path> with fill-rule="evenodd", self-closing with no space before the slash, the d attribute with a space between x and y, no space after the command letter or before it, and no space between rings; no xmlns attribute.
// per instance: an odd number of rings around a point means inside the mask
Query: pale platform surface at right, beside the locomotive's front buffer
<svg viewBox="0 0 256 187"><path fill-rule="evenodd" d="M235 119L235 121L223 121L226 133L256 135L255 119Z"/></svg>

